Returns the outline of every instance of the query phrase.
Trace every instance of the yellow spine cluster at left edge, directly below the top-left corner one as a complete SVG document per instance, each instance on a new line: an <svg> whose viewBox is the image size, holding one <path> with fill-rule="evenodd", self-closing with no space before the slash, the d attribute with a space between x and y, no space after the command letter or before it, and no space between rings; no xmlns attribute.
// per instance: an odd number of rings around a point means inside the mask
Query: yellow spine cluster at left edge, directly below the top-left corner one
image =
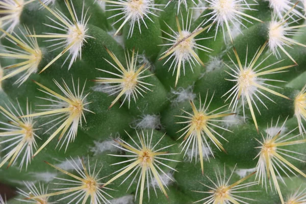
<svg viewBox="0 0 306 204"><path fill-rule="evenodd" d="M22 73L14 84L23 84L32 73L36 73L38 65L42 59L42 52L38 46L36 37L26 37L26 35L32 35L28 27L25 27L25 33L19 28L21 36L18 36L15 32L11 34L0 29L7 35L7 40L12 43L12 46L0 45L2 48L0 57L4 59L14 59L18 63L10 64L4 69L13 69L8 72L4 77L0 78L0 83L3 80L14 77L19 73ZM33 30L33 34L35 31Z"/></svg>

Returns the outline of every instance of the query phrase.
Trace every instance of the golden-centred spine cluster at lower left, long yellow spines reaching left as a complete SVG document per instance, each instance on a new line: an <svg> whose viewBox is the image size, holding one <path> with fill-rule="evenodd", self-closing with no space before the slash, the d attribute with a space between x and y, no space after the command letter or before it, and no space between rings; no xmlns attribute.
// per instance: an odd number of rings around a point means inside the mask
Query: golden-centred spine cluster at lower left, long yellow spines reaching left
<svg viewBox="0 0 306 204"><path fill-rule="evenodd" d="M72 158L71 158L72 159ZM50 196L54 196L54 195L61 195L61 194L68 194L67 196L65 196L64 198L61 198L61 200L66 199L66 198L70 198L70 201L79 199L78 202L80 202L82 200L82 204L86 203L86 201L88 200L89 197L91 200L91 203L100 203L101 201L103 201L104 203L106 203L108 201L108 199L106 198L105 195L113 198L111 195L109 195L108 193L106 193L104 191L104 189L108 189L108 190L113 190L110 188L104 188L101 189L101 186L103 185L103 183L101 183L100 181L103 179L97 179L97 176L99 174L99 172L101 171L101 168L96 172L96 164L97 161L95 162L93 171L87 171L87 168L84 164L83 159L80 159L82 163L82 168L83 171L78 167L77 163L72 159L73 163L70 163L73 166L73 169L75 171L78 172L79 175L75 175L72 173L69 173L68 171L65 171L64 169L61 169L53 164L50 164L48 162L46 162L48 165L52 166L53 168L61 171L62 173L67 174L68 176L72 177L74 180L68 180L68 179L61 179L61 178L56 178L58 180L64 181L66 182L65 185L70 185L73 187L69 187L69 188L61 188L58 189L60 191L55 192L55 193L48 193L48 194L43 194L43 195L37 195L37 196L31 196L25 199L39 199L39 198L43 198L43 197L50 197ZM90 170L90 163L88 161L88 169ZM78 192L77 196L74 196L75 193L73 192ZM74 196L74 197L72 197ZM94 202L92 202L94 201Z"/></svg>

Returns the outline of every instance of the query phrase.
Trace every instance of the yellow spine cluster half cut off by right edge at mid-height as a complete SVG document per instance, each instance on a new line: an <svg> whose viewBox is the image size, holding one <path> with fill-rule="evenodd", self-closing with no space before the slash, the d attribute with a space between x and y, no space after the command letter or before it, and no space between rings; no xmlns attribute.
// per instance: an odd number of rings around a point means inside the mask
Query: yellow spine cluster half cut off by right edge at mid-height
<svg viewBox="0 0 306 204"><path fill-rule="evenodd" d="M294 114L297 118L298 129L302 136L306 134L306 129L303 126L303 120L306 121L306 85L294 100Z"/></svg>

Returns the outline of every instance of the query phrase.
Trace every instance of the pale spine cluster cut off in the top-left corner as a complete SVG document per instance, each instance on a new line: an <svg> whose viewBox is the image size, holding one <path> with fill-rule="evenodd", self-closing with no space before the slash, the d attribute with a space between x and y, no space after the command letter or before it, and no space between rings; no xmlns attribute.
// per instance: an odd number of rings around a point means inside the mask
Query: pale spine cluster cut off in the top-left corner
<svg viewBox="0 0 306 204"><path fill-rule="evenodd" d="M19 18L23 7L34 0L3 0L0 1L0 13L5 14L1 16L0 28L5 29L8 33L14 31L16 25L19 24ZM2 37L5 34L2 35Z"/></svg>

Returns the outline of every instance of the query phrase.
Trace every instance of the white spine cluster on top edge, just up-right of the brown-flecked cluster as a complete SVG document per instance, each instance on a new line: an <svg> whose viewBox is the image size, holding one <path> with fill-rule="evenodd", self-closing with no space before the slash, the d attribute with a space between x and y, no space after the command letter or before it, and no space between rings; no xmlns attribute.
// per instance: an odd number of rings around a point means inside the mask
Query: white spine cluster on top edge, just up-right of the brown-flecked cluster
<svg viewBox="0 0 306 204"><path fill-rule="evenodd" d="M243 24L242 20L245 20L249 23L252 23L252 22L248 19L253 19L253 20L262 22L261 20L253 16L243 13L243 11L246 11L246 10L254 10L250 8L250 6L256 6L258 4L248 4L242 0L211 0L211 1L205 0L205 1L209 5L207 7L200 8L200 9L210 9L212 11L202 16L202 17L211 16L204 23L204 25L210 21L212 21L213 23L217 23L215 38L217 36L219 28L221 27L225 42L226 42L225 28L227 30L228 35L230 36L231 41L233 42L234 40L233 33L230 28L230 23L235 26L235 22L237 22L239 23L239 25L242 25L242 27L247 28ZM239 27L236 26L236 29L238 29L238 31L241 32L241 29Z"/></svg>

